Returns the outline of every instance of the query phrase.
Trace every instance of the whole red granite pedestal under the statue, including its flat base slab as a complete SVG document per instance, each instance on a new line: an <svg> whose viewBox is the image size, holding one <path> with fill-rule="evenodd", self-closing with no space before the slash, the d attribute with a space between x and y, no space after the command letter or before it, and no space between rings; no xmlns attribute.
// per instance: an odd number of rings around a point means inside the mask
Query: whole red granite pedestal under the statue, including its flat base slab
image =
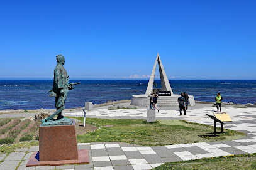
<svg viewBox="0 0 256 170"><path fill-rule="evenodd" d="M77 150L73 122L72 125L40 126L39 152L33 153L26 166L86 163L89 163L88 150Z"/></svg>

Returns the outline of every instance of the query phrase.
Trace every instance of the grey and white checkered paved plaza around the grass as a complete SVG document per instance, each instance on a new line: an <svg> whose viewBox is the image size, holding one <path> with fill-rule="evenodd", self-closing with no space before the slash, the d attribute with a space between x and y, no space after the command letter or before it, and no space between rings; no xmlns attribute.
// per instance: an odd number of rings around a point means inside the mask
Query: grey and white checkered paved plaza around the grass
<svg viewBox="0 0 256 170"><path fill-rule="evenodd" d="M206 114L213 114L216 108L201 107L187 110L187 115L179 116L177 108L170 108L156 112L159 120L187 120L201 124L214 125L213 119ZM90 164L25 167L33 151L39 147L17 149L16 152L0 155L0 169L152 169L165 162L186 161L203 157L217 157L231 154L256 153L256 108L223 107L233 122L226 122L225 129L238 130L247 133L247 137L233 141L201 142L191 144L175 144L167 146L139 146L123 142L97 142L78 144L79 149L89 150ZM94 109L87 112L87 117L104 119L146 119L147 109L135 110ZM182 113L183 114L183 113ZM66 116L83 117L83 112L66 112ZM217 127L220 124L217 123ZM19 166L18 166L19 165Z"/></svg>

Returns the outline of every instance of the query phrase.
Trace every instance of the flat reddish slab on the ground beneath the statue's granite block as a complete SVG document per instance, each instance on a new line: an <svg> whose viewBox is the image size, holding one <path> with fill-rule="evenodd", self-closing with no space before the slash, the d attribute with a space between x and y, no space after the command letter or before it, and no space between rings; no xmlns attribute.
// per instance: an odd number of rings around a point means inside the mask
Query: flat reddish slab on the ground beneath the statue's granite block
<svg viewBox="0 0 256 170"><path fill-rule="evenodd" d="M78 159L75 160L61 160L61 161L39 161L39 152L36 151L31 156L30 160L26 164L26 167L30 166L58 166L64 164L89 164L89 154L87 149L78 150Z"/></svg>

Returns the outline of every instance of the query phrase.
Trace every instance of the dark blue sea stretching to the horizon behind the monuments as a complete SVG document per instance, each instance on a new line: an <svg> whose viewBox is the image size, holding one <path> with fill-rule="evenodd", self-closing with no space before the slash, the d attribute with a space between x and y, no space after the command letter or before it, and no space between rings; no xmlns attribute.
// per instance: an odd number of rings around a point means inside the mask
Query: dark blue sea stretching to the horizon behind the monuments
<svg viewBox="0 0 256 170"><path fill-rule="evenodd" d="M116 100L130 100L132 95L146 92L148 80L69 80L80 82L70 90L66 108L83 107ZM186 92L195 100L214 102L218 92L223 102L247 104L256 102L256 80L169 80L175 94ZM161 88L160 80L155 80ZM0 80L0 110L55 109L50 97L53 80Z"/></svg>

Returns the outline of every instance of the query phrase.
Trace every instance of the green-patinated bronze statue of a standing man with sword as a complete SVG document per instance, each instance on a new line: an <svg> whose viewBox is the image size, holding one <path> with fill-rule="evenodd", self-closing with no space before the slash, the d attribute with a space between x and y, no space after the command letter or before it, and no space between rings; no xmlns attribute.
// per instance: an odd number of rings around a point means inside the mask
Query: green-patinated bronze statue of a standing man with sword
<svg viewBox="0 0 256 170"><path fill-rule="evenodd" d="M67 119L62 115L62 110L65 109L65 102L67 99L67 92L69 90L74 89L73 85L77 85L79 83L70 83L69 84L69 75L67 75L67 71L64 68L65 64L65 58L62 55L57 55L57 65L54 69L54 80L53 80L53 87L52 90L50 90L50 97L55 97L55 107L57 111L50 115L50 117L47 117L42 120L42 125L67 125L72 124L71 119ZM57 120L59 122L50 122L55 115L58 115ZM71 122L70 122L71 120ZM48 123L46 123L48 122Z"/></svg>

